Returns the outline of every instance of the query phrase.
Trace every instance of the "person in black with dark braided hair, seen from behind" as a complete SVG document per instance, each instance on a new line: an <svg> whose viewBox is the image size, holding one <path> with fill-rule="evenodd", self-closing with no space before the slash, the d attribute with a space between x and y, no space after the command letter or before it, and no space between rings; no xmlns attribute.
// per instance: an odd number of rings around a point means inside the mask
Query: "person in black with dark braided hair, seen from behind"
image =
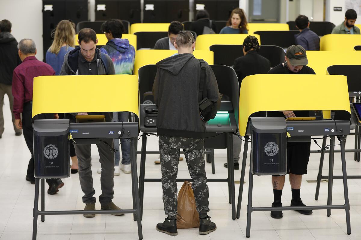
<svg viewBox="0 0 361 240"><path fill-rule="evenodd" d="M255 74L266 74L271 68L271 62L258 54L260 50L260 44L258 43L257 37L248 36L243 41L243 55L234 61L234 71L238 77L238 87L241 87L243 78L249 75ZM242 140L239 137L233 135L233 160L234 169L239 169L239 154L242 149ZM228 167L228 164L224 164Z"/></svg>

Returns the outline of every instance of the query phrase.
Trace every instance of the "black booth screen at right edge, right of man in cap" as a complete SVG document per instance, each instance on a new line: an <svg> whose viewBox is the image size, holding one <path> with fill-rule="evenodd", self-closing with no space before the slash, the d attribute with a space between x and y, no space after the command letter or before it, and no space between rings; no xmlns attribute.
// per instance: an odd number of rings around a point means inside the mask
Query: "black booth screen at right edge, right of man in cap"
<svg viewBox="0 0 361 240"><path fill-rule="evenodd" d="M327 68L330 75L347 76L349 92L361 91L361 65L333 65Z"/></svg>

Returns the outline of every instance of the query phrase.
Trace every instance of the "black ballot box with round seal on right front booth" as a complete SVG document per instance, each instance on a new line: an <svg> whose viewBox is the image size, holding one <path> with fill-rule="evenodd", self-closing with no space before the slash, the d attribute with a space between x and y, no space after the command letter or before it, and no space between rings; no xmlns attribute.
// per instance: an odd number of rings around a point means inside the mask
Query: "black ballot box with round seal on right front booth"
<svg viewBox="0 0 361 240"><path fill-rule="evenodd" d="M253 175L287 173L287 125L284 118L251 118Z"/></svg>

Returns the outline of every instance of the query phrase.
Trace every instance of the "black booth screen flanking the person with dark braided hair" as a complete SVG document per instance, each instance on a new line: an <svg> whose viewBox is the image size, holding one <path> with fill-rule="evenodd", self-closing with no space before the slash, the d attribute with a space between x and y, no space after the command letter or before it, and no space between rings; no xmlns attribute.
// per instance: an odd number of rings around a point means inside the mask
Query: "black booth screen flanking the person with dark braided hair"
<svg viewBox="0 0 361 240"><path fill-rule="evenodd" d="M214 52L214 64L232 66L236 58L243 56L242 45L212 45L209 49ZM270 60L271 67L284 62L284 50L282 47L261 45L259 53Z"/></svg>

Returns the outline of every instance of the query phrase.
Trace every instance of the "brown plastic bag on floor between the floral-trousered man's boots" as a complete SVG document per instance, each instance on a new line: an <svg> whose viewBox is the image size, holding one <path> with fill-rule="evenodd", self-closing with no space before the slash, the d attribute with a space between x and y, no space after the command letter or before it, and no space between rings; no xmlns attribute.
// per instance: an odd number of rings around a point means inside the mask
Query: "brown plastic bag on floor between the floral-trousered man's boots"
<svg viewBox="0 0 361 240"><path fill-rule="evenodd" d="M192 184L185 181L178 194L177 228L193 227L199 227L199 214Z"/></svg>

